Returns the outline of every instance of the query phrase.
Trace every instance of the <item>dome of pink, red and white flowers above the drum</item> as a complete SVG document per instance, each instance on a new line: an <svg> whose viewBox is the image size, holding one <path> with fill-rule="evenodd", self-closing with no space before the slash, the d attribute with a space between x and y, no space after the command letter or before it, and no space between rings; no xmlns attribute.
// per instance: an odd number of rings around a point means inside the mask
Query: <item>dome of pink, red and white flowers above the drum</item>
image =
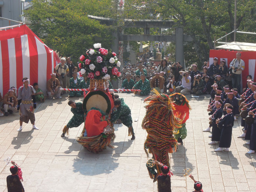
<svg viewBox="0 0 256 192"><path fill-rule="evenodd" d="M102 48L101 43L95 43L93 47L94 49L89 49L85 55L81 55L78 64L81 69L79 74L88 74L89 79L95 80L119 79L121 73L116 67L121 63L116 58L116 53Z"/></svg>

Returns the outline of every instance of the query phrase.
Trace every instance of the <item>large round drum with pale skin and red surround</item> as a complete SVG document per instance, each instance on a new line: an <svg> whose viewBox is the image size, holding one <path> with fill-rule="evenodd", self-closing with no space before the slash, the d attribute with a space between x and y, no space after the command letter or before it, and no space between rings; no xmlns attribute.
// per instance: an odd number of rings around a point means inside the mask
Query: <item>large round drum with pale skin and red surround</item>
<svg viewBox="0 0 256 192"><path fill-rule="evenodd" d="M99 108L110 114L114 107L114 100L109 92L97 90L89 91L83 101L83 109L90 110L92 107Z"/></svg>

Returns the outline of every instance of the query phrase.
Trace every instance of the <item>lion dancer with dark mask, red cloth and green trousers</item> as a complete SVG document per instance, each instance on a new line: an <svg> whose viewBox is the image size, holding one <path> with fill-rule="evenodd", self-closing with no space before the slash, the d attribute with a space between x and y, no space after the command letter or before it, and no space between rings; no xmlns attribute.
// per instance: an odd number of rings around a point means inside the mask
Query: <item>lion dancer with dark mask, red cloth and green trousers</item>
<svg viewBox="0 0 256 192"><path fill-rule="evenodd" d="M175 130L174 137L179 143L183 144L182 140L187 137L186 121L189 119L189 111L191 110L191 107L187 98L180 93L174 93L169 97L173 102L173 114L182 119L181 128Z"/></svg>

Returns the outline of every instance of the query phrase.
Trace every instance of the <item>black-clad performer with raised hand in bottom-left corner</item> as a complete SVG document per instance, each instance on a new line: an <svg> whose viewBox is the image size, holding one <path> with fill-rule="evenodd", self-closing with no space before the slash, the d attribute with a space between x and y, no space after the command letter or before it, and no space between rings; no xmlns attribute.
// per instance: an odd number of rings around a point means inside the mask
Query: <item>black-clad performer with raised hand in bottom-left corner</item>
<svg viewBox="0 0 256 192"><path fill-rule="evenodd" d="M13 166L10 167L12 175L7 176L7 190L8 192L24 192L24 187L21 183L23 181L21 168L12 161Z"/></svg>

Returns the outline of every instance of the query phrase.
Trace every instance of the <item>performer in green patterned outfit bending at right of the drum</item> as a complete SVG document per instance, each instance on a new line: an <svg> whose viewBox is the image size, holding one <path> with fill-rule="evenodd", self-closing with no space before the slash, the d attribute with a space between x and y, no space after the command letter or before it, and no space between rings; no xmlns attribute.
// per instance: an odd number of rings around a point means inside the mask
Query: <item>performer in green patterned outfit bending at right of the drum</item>
<svg viewBox="0 0 256 192"><path fill-rule="evenodd" d="M114 105L116 110L111 113L111 123L114 123L117 119L121 119L122 123L128 127L128 136L132 135L131 140L134 140L135 133L132 126L131 109L124 103L123 98L115 99Z"/></svg>

